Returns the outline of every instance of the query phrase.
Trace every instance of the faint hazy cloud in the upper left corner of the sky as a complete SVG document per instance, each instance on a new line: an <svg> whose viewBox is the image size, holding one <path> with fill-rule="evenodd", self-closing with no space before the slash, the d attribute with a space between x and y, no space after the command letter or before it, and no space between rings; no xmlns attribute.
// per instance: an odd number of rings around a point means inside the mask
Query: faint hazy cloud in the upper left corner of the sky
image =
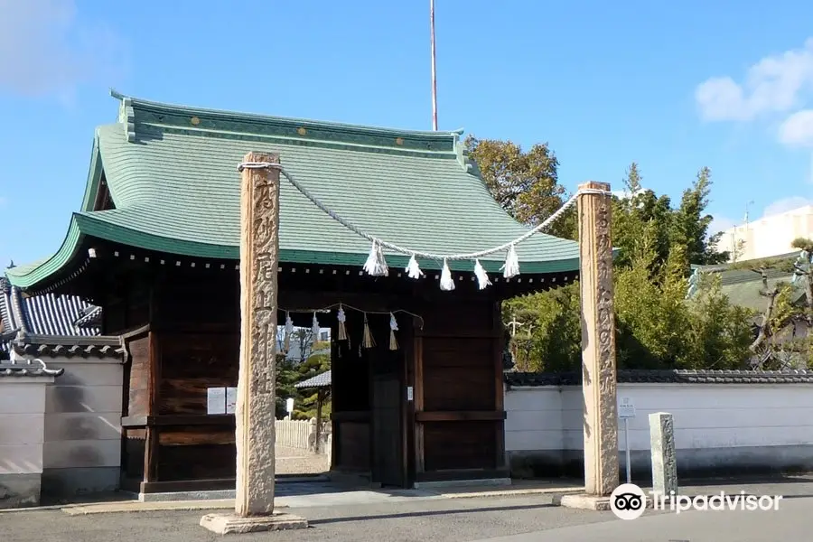
<svg viewBox="0 0 813 542"><path fill-rule="evenodd" d="M0 89L70 97L79 84L109 84L121 56L116 34L79 21L73 0L0 0Z"/></svg>

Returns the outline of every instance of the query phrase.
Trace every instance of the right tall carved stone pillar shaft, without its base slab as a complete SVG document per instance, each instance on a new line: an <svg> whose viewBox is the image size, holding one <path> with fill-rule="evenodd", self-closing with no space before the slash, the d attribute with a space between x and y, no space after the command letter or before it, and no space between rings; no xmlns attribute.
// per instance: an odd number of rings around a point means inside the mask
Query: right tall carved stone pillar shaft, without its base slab
<svg viewBox="0 0 813 542"><path fill-rule="evenodd" d="M612 302L610 185L586 182L578 198L579 273L582 299L582 389L584 392L584 488L607 496L619 484Z"/></svg>

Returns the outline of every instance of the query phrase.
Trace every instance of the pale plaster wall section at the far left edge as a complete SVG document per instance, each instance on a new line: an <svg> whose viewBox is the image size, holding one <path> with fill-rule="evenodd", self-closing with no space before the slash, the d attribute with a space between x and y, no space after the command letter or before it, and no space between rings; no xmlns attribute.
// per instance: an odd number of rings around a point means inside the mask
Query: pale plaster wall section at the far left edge
<svg viewBox="0 0 813 542"><path fill-rule="evenodd" d="M0 378L0 475L42 473L45 389L52 381Z"/></svg>

